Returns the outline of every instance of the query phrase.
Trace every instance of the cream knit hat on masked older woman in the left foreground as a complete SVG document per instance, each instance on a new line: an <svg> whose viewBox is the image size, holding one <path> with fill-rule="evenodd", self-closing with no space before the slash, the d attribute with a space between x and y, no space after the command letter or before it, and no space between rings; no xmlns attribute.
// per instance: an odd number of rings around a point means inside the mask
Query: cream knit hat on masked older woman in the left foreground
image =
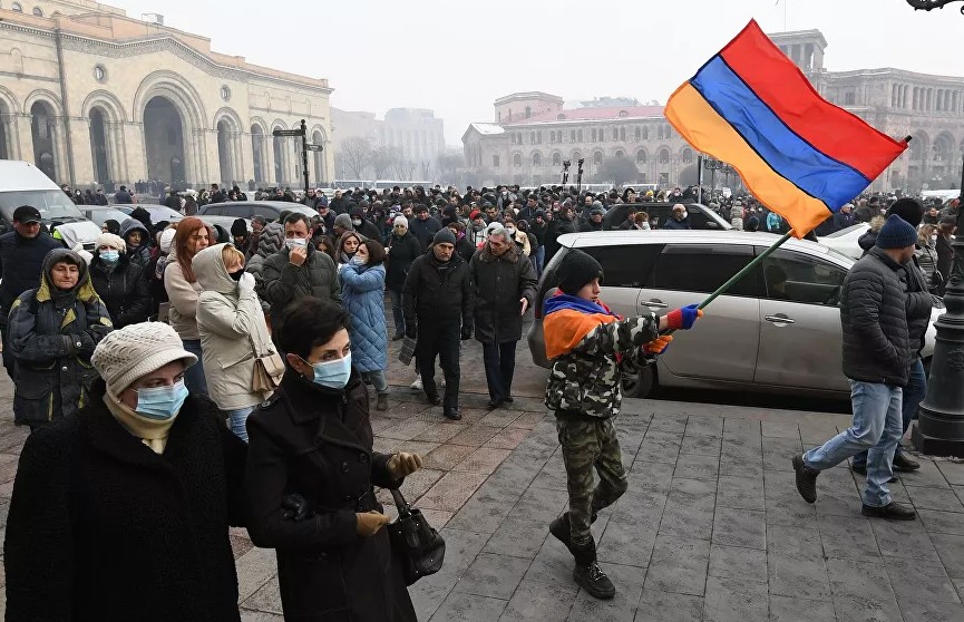
<svg viewBox="0 0 964 622"><path fill-rule="evenodd" d="M187 368L197 362L197 357L184 349L173 328L162 322L143 322L111 331L90 357L97 373L107 382L107 391L115 397L138 378L176 360L183 360Z"/></svg>

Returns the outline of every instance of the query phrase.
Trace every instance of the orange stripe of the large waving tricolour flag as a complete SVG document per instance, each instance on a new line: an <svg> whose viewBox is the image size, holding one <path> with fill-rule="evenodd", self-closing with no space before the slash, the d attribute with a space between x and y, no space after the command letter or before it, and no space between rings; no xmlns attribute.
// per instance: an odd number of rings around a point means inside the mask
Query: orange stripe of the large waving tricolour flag
<svg viewBox="0 0 964 622"><path fill-rule="evenodd" d="M753 196L787 218L797 237L802 237L830 215L821 201L770 168L690 82L670 97L665 116L693 147L732 165Z"/></svg>

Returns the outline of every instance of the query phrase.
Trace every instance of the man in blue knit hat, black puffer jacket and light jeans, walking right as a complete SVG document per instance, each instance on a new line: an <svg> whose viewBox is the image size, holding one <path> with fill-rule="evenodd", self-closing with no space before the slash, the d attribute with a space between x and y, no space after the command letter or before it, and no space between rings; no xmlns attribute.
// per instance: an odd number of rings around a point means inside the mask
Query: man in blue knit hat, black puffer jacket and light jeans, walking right
<svg viewBox="0 0 964 622"><path fill-rule="evenodd" d="M913 521L913 508L895 503L887 483L902 434L902 398L912 360L907 327L907 274L917 231L892 214L877 244L854 264L840 291L844 373L850 379L853 425L821 447L793 457L797 490L817 500L817 476L865 449L867 486L861 514Z"/></svg>

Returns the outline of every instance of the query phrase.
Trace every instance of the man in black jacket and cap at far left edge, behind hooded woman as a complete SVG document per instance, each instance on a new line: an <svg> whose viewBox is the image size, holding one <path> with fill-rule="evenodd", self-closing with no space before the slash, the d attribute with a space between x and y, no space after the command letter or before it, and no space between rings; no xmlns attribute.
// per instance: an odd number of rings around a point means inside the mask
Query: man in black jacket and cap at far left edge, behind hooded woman
<svg viewBox="0 0 964 622"><path fill-rule="evenodd" d="M17 297L40 286L43 257L62 244L43 231L40 211L21 205L13 211L13 231L0 235L0 336L3 340L3 367L13 379L13 357L7 346L7 317Z"/></svg>

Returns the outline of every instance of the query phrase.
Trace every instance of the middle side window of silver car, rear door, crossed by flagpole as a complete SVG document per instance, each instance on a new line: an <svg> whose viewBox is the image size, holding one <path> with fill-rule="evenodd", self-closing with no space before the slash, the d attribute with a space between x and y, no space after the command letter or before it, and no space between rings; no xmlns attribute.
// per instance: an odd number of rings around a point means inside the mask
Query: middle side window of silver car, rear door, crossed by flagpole
<svg viewBox="0 0 964 622"><path fill-rule="evenodd" d="M753 260L753 247L738 244L666 244L656 262L653 288L711 293ZM759 298L760 270L738 281L727 295Z"/></svg>

